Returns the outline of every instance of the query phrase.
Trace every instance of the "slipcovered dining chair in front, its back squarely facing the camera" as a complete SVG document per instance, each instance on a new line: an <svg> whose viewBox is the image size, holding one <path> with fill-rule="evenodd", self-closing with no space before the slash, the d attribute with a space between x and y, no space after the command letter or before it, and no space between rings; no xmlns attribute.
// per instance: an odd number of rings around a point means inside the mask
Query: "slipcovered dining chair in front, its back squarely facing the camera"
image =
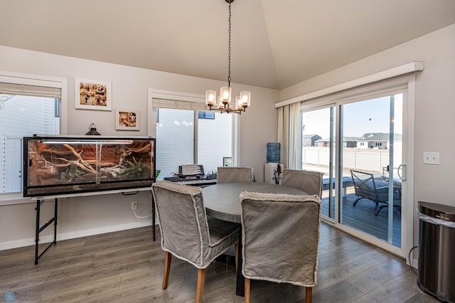
<svg viewBox="0 0 455 303"><path fill-rule="evenodd" d="M240 201L245 302L250 302L250 280L304 286L306 302L311 302L317 284L321 199L244 191Z"/></svg>

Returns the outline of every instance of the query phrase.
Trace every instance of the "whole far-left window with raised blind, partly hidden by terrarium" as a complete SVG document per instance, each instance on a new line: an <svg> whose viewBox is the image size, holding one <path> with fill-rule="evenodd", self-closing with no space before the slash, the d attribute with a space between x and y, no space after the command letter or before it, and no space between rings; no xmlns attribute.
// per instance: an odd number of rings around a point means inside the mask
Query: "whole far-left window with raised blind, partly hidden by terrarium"
<svg viewBox="0 0 455 303"><path fill-rule="evenodd" d="M22 138L60 134L61 83L48 87L23 80L0 78L0 193L5 194L22 191Z"/></svg>

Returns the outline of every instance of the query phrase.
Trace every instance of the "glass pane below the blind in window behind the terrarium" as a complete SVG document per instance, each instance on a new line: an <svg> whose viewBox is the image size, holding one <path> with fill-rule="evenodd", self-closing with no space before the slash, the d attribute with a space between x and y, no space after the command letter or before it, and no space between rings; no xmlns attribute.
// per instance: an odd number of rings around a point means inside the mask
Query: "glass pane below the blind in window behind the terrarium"
<svg viewBox="0 0 455 303"><path fill-rule="evenodd" d="M22 191L22 138L59 134L53 97L11 95L0 101L0 193Z"/></svg>

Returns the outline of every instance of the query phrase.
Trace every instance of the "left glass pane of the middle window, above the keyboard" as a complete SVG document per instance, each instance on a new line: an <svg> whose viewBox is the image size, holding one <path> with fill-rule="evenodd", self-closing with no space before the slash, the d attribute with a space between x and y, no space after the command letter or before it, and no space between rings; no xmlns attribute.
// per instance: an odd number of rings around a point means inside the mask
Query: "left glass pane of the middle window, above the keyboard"
<svg viewBox="0 0 455 303"><path fill-rule="evenodd" d="M178 174L178 166L194 163L194 112L160 108L156 119L158 180Z"/></svg>

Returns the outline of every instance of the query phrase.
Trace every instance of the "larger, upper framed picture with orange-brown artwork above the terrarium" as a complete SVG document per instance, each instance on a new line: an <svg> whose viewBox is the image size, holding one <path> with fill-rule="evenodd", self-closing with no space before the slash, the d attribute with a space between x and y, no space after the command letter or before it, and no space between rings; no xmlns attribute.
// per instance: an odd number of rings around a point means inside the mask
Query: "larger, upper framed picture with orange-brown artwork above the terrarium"
<svg viewBox="0 0 455 303"><path fill-rule="evenodd" d="M75 106L81 110L112 110L111 83L75 78Z"/></svg>

